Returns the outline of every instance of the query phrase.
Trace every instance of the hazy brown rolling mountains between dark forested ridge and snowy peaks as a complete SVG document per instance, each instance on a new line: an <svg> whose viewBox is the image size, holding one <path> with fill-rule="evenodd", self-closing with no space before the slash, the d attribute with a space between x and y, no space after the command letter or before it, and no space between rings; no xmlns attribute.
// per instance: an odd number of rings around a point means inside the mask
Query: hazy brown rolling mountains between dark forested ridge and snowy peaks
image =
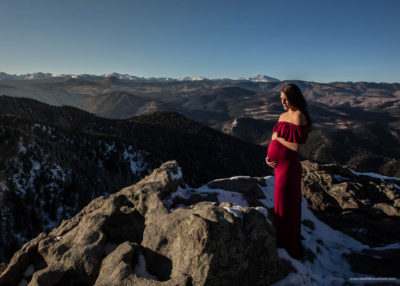
<svg viewBox="0 0 400 286"><path fill-rule="evenodd" d="M111 74L96 79L4 79L0 80L0 95L73 106L113 119L174 111L266 147L273 125L283 112L280 90L287 83L296 83L307 99L314 122L301 150L304 159L400 177L399 83L264 82L263 76L254 81L121 78Z"/></svg>

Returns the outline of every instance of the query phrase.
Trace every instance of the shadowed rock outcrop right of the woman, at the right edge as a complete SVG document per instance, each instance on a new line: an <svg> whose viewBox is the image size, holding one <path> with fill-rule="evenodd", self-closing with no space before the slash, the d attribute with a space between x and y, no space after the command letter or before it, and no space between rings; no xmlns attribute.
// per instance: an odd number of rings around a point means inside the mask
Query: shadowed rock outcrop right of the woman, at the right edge
<svg viewBox="0 0 400 286"><path fill-rule="evenodd" d="M303 161L303 196L319 219L370 246L400 241L400 190L394 179Z"/></svg>

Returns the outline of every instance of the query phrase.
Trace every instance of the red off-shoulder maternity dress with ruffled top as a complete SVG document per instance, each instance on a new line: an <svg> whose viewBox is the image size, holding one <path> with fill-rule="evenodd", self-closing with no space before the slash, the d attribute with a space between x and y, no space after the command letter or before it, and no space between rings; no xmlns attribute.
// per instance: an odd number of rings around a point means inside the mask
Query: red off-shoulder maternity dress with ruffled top
<svg viewBox="0 0 400 286"><path fill-rule="evenodd" d="M279 121L273 132L288 142L304 144L308 136L308 125L296 125ZM274 225L277 247L285 248L293 258L303 255L300 242L301 225L301 173L298 152L272 140L268 147L270 161L275 161Z"/></svg>

